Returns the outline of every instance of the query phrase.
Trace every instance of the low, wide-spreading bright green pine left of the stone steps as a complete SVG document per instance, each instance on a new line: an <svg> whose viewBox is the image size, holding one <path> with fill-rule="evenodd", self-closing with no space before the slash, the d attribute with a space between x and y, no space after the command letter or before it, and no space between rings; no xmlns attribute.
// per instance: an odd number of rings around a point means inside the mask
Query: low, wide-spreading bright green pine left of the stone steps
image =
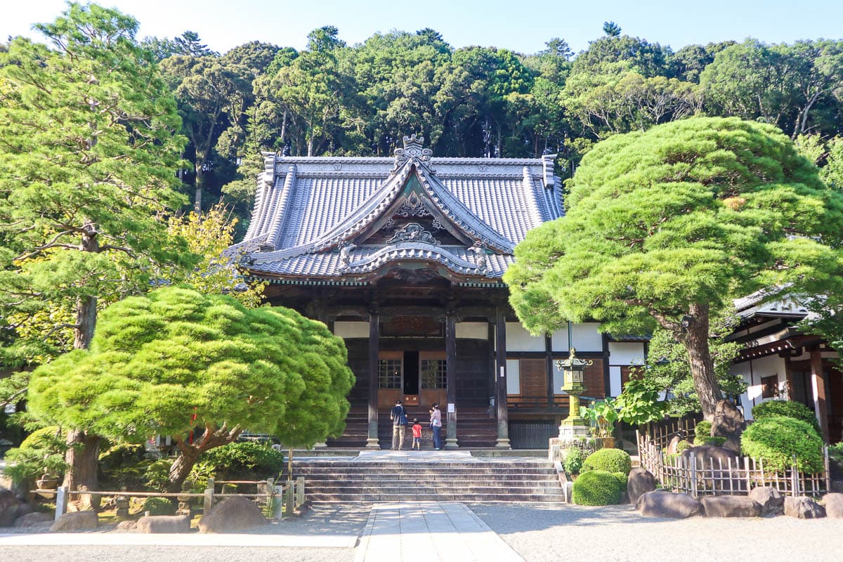
<svg viewBox="0 0 843 562"><path fill-rule="evenodd" d="M29 404L97 435L173 436L169 488L180 490L202 452L245 429L296 446L340 435L354 384L346 361L341 338L293 310L169 286L106 308L89 350L35 370Z"/></svg>

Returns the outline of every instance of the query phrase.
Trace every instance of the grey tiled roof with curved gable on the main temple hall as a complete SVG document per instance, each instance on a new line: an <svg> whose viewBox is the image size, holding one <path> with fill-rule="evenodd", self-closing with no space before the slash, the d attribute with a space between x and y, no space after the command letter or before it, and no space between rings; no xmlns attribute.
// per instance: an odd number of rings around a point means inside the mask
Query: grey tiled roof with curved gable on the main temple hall
<svg viewBox="0 0 843 562"><path fill-rule="evenodd" d="M499 278L527 231L561 216L549 157L431 158L408 140L395 158L267 154L249 230L231 250L256 276L354 278L390 262L425 261L459 276ZM369 242L408 201L464 245Z"/></svg>

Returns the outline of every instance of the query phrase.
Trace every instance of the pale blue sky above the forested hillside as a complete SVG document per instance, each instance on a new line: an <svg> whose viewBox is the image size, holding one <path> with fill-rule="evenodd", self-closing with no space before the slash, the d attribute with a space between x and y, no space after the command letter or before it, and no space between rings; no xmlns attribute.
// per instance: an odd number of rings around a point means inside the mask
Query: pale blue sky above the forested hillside
<svg viewBox="0 0 843 562"><path fill-rule="evenodd" d="M62 0L3 0L0 40L30 35L31 25L55 19ZM311 29L336 25L349 44L377 31L438 30L455 47L494 45L533 53L561 37L574 51L602 35L604 21L651 42L684 45L754 37L768 43L840 39L843 0L103 0L140 22L139 37L196 31L215 51L250 40L302 48Z"/></svg>

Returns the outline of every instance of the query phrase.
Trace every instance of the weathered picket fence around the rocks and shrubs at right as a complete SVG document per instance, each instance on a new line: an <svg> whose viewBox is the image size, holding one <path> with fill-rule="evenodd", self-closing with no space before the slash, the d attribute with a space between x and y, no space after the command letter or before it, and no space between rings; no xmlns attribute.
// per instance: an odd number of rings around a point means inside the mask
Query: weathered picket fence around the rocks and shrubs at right
<svg viewBox="0 0 843 562"><path fill-rule="evenodd" d="M771 486L785 495L822 495L830 490L829 450L823 447L825 469L803 473L796 466L781 471L765 469L764 462L749 457L708 458L695 455L666 455L650 436L636 432L641 466L663 486L674 491L700 495L746 495L758 486Z"/></svg>

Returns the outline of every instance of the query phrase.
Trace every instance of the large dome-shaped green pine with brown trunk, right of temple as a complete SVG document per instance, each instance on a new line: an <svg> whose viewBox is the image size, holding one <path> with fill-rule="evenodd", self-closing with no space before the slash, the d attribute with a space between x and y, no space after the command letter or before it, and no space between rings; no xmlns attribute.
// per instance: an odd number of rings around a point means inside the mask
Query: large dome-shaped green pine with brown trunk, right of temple
<svg viewBox="0 0 843 562"><path fill-rule="evenodd" d="M843 194L773 126L700 118L612 136L570 188L566 217L529 232L504 277L518 317L534 334L567 319L667 329L707 419L722 397L712 315L761 289L840 292Z"/></svg>

